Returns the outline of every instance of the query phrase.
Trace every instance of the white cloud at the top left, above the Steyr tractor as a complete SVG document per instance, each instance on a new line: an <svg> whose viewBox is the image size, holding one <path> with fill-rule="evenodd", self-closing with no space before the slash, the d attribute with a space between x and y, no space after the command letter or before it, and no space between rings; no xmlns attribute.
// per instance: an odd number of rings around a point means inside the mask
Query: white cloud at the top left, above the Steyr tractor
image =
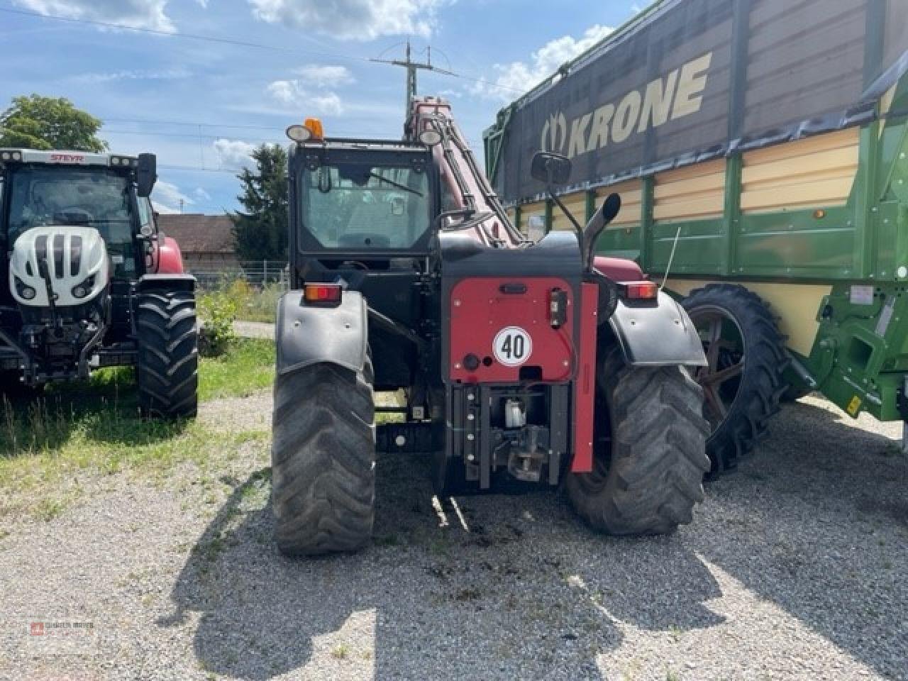
<svg viewBox="0 0 908 681"><path fill-rule="evenodd" d="M130 28L150 28L171 33L176 30L165 13L168 0L14 0L42 15L88 19Z"/></svg>

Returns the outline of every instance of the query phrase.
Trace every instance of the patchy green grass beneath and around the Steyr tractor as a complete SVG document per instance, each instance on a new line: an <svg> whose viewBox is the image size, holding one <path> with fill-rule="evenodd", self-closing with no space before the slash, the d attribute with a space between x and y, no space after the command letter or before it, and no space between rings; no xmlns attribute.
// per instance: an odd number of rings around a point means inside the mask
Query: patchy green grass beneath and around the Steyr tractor
<svg viewBox="0 0 908 681"><path fill-rule="evenodd" d="M271 385L273 374L271 341L237 341L222 357L202 360L199 397L247 395ZM80 498L86 478L137 470L166 485L177 464L205 470L268 437L264 430L225 433L195 420L139 418L131 368L52 384L37 398L0 395L0 526L13 528L22 516L57 518ZM258 501L261 492L251 495Z"/></svg>

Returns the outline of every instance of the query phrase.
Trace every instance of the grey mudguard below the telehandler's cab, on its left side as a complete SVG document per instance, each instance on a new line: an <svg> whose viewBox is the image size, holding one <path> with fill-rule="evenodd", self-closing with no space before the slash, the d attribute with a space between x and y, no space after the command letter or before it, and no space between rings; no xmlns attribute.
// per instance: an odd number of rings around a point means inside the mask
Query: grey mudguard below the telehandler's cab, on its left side
<svg viewBox="0 0 908 681"><path fill-rule="evenodd" d="M359 291L344 291L338 307L302 305L302 291L278 301L278 374L327 362L351 371L366 364L368 307Z"/></svg>

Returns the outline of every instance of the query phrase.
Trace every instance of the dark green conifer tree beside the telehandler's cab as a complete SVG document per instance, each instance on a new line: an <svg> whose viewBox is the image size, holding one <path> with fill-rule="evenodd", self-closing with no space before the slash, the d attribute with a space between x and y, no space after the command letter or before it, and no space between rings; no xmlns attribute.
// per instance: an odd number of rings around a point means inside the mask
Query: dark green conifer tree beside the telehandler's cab
<svg viewBox="0 0 908 681"><path fill-rule="evenodd" d="M231 215L233 241L241 261L287 261L287 152L262 144L252 152L254 172L238 175L244 211Z"/></svg>

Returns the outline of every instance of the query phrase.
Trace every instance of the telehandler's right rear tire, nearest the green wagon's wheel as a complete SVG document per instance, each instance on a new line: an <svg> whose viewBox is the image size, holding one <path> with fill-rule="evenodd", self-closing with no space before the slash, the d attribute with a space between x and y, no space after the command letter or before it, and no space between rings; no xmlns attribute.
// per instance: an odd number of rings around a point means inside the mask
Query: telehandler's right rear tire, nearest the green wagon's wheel
<svg viewBox="0 0 908 681"><path fill-rule="evenodd" d="M600 352L593 471L568 474L568 498L597 531L668 534L704 498L703 393L684 367L629 367L617 347Z"/></svg>

